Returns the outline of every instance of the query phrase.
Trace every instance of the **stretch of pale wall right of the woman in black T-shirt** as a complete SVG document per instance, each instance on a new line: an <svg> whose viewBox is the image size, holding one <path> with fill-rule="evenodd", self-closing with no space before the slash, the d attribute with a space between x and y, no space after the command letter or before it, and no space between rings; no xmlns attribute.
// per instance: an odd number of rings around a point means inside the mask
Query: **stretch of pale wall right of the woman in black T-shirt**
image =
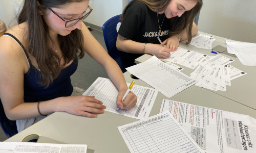
<svg viewBox="0 0 256 153"><path fill-rule="evenodd" d="M203 1L199 31L225 38L256 43L256 1Z"/></svg>

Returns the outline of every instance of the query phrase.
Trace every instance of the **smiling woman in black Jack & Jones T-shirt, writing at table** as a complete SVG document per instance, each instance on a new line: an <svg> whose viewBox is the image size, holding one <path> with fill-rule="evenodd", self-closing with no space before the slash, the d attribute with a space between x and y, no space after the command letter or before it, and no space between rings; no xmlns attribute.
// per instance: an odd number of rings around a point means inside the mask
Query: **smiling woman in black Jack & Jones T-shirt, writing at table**
<svg viewBox="0 0 256 153"><path fill-rule="evenodd" d="M177 50L179 41L189 43L198 32L193 19L201 7L202 0L131 1L121 15L116 42L122 51L122 70L134 65L134 60L143 54L167 58Z"/></svg>

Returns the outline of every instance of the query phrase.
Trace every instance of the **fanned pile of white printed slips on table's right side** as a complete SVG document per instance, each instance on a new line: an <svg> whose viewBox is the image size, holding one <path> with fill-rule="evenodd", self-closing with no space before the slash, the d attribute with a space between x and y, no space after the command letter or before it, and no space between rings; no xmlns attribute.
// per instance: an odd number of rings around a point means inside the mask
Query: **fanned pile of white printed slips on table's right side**
<svg viewBox="0 0 256 153"><path fill-rule="evenodd" d="M190 78L198 81L196 86L210 90L226 91L226 85L231 86L230 81L247 74L233 66L227 65L233 60L221 55L213 56L202 62Z"/></svg>

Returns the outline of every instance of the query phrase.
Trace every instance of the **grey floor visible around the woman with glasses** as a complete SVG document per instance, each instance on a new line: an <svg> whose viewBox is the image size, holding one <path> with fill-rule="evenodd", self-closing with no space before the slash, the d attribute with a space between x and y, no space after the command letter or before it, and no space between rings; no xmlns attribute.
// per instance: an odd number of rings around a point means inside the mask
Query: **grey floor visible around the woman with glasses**
<svg viewBox="0 0 256 153"><path fill-rule="evenodd" d="M103 33L97 30L92 30L91 33L106 50ZM84 58L79 60L78 69L71 76L71 82L74 87L87 89L98 77L108 78L108 75L97 62L86 54ZM7 136L0 128L0 142L6 139Z"/></svg>

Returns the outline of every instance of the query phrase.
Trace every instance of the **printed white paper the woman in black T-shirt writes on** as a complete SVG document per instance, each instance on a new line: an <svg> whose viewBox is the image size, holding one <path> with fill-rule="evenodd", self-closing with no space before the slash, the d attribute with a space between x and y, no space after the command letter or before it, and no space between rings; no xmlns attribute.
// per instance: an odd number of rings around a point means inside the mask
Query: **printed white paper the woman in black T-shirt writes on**
<svg viewBox="0 0 256 153"><path fill-rule="evenodd" d="M195 69L206 57L207 55L178 47L170 57L164 60Z"/></svg>

